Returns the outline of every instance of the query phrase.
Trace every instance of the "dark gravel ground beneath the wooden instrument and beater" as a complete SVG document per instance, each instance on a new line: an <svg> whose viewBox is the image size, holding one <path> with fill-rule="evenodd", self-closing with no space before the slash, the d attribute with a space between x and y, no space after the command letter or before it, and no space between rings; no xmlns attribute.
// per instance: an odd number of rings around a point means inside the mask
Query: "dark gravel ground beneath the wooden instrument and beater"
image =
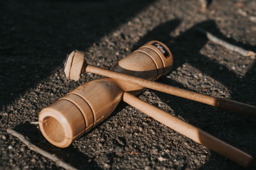
<svg viewBox="0 0 256 170"><path fill-rule="evenodd" d="M40 110L100 76L65 78L72 50L110 68L147 41L170 47L173 69L159 81L256 105L256 62L208 41L196 27L256 52L256 1L214 0L207 11L191 1L0 1L0 169L61 169L6 129L78 169L241 169L234 162L121 102L111 117L68 148L49 144ZM145 90L140 99L256 157L255 118ZM256 168L256 167L254 167ZM252 168L253 169L253 168Z"/></svg>

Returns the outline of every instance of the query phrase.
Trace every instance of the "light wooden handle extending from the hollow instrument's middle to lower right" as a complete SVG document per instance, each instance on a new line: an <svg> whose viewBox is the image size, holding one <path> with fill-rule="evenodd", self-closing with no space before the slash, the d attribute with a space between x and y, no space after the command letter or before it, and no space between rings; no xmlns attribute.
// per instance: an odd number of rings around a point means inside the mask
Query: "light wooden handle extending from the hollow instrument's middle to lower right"
<svg viewBox="0 0 256 170"><path fill-rule="evenodd" d="M184 136L200 143L204 146L207 146L211 150L220 153L224 157L236 162L237 164L243 167L250 167L253 164L254 158L251 155L235 148L234 146L221 141L218 138L215 138L211 134L208 134L201 129L183 122L179 118L173 117L169 113L166 113L159 108L152 106L144 101L138 99L138 97L129 94L128 92L124 92L123 100L125 103L130 104L134 108L142 111L147 114L149 117L156 119L158 122L170 127L174 131L183 134Z"/></svg>

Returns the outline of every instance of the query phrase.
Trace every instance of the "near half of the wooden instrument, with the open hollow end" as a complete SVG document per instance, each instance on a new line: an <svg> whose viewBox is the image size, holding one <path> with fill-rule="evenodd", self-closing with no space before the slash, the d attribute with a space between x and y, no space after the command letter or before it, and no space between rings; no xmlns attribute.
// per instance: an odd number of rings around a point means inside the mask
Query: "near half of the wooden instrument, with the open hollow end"
<svg viewBox="0 0 256 170"><path fill-rule="evenodd" d="M67 147L108 117L122 93L111 78L84 83L40 112L40 130L52 145Z"/></svg>

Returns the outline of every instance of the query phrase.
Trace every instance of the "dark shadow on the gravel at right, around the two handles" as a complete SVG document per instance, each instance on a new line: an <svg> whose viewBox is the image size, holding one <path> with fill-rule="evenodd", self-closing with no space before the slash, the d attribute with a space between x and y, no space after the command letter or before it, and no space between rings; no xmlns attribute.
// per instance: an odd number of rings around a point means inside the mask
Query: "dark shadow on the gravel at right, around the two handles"
<svg viewBox="0 0 256 170"><path fill-rule="evenodd" d="M218 60L212 59L211 57L202 55L200 53L200 50L207 44L209 40L204 34L196 31L196 28L201 27L206 31L212 32L212 34L218 36L218 38L224 39L225 41L228 41L228 43L242 46L247 50L256 51L255 46L246 45L234 41L234 39L226 38L223 34L221 34L214 20L207 20L205 22L196 24L188 29L188 31L182 32L180 36L174 38L170 36L170 32L175 29L179 23L180 20L175 19L158 25L155 29L148 32L148 34L145 35L145 37L133 47L133 50L136 50L136 48L152 39L162 41L170 47L173 54L172 70L176 71L178 67L182 67L182 64L188 63L201 71L203 74L206 74L214 80L219 81L222 85L225 85L230 92L231 99L255 105L255 61L246 74L244 74L243 78L241 78L241 76L237 75L234 71L231 71L230 68L220 64ZM231 55L230 57L234 56ZM161 78L159 81L175 87L180 87L182 89L191 90L189 87L186 87L178 81L172 79ZM250 89L249 92L248 89ZM185 118L185 120L187 120L190 124L200 127L200 129L209 132L210 134L243 150L244 152L249 154L256 153L255 144L252 142L253 139L256 138L254 135L256 128L253 118L246 118L243 116L234 115L232 113L225 113L224 111L217 110L211 106L206 106L205 104L196 103L187 99L181 99L179 97L170 96L161 92L155 93L157 96L159 96L161 101L172 106L172 109L175 111L176 115ZM212 152L211 155L212 156L209 162L214 162L214 164L223 164L223 162L221 162L223 161L221 160L221 157L216 157L214 152ZM201 169L211 168L211 163L209 162L204 164ZM237 166L233 163L231 165L234 167ZM230 164L226 164L225 166L228 167Z"/></svg>

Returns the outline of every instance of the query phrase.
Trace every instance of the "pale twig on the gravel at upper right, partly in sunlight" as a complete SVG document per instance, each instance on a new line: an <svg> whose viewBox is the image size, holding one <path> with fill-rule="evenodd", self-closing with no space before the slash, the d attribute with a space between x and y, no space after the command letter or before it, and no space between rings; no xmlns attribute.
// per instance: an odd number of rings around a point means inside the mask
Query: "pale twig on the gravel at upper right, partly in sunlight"
<svg viewBox="0 0 256 170"><path fill-rule="evenodd" d="M244 48L241 48L241 47L236 46L236 45L232 45L232 44L224 41L223 39L220 39L220 38L214 36L210 32L205 31L204 29L202 29L200 27L197 27L196 30L198 30L198 31L202 32L203 34L205 34L207 36L207 38L209 40L211 40L213 43L216 43L218 45L224 46L225 48L227 48L228 50L230 50L232 52L238 52L238 53L241 53L241 55L250 56L250 57L254 57L256 55L255 52L245 50Z"/></svg>

